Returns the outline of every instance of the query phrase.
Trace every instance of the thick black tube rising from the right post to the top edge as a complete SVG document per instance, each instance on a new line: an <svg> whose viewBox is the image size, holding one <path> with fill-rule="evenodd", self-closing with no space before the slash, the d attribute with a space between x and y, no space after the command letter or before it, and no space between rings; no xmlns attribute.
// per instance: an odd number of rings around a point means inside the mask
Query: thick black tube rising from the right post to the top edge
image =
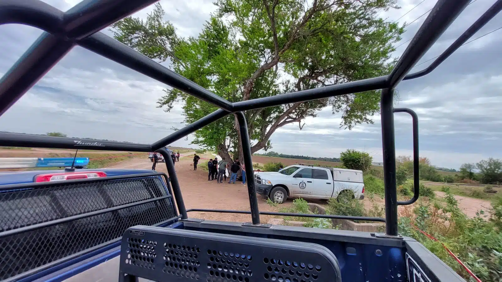
<svg viewBox="0 0 502 282"><path fill-rule="evenodd" d="M394 88L403 80L469 2L470 0L439 0L436 3L389 75L387 87Z"/></svg>

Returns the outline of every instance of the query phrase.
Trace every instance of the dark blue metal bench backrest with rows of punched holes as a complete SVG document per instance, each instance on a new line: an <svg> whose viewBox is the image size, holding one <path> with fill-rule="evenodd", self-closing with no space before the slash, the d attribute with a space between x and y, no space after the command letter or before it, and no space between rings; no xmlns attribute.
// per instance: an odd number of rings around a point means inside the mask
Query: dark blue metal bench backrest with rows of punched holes
<svg viewBox="0 0 502 282"><path fill-rule="evenodd" d="M124 276L126 275L126 276ZM120 279L341 281L338 260L312 243L149 226L122 236Z"/></svg>

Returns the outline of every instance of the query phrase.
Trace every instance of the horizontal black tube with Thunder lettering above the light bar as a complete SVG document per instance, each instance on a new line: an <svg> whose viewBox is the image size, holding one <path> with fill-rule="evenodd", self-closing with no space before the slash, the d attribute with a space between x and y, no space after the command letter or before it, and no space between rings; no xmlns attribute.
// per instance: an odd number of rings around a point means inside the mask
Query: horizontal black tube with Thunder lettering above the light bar
<svg viewBox="0 0 502 282"><path fill-rule="evenodd" d="M0 98L1 99L1 98ZM28 148L152 152L150 145L0 132L0 145Z"/></svg>

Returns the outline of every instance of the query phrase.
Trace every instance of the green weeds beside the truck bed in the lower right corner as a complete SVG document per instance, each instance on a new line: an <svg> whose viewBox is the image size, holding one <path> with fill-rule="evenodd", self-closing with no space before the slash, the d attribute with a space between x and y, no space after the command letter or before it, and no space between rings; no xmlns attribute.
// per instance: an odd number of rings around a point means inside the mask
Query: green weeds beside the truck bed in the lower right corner
<svg viewBox="0 0 502 282"><path fill-rule="evenodd" d="M499 282L502 279L502 229L500 216L492 215L486 220L481 210L476 217L468 218L458 207L458 203L448 187L446 206L431 206L425 202L418 205L413 217L401 217L399 230L404 236L418 240L446 264L468 279L469 275L442 247L444 243L455 255L484 282ZM502 203L500 203L502 205ZM499 208L494 204L494 208ZM429 239L413 226L438 238L440 242Z"/></svg>

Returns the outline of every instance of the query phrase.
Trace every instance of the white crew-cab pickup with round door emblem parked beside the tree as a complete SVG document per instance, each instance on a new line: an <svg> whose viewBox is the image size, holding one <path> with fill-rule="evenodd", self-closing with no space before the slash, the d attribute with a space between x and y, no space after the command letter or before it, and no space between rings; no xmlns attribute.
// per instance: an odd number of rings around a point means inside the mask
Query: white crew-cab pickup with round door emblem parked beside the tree
<svg viewBox="0 0 502 282"><path fill-rule="evenodd" d="M288 197L311 199L337 198L353 195L364 199L362 171L292 165L280 172L255 173L258 194L283 203Z"/></svg>

